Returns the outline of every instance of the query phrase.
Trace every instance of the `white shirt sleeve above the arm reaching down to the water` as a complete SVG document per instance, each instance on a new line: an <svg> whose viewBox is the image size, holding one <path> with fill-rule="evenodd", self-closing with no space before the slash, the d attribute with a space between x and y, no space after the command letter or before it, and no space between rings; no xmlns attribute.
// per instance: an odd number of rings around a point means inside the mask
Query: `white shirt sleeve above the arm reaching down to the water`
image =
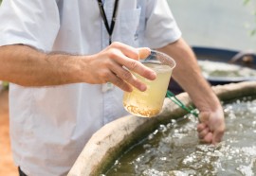
<svg viewBox="0 0 256 176"><path fill-rule="evenodd" d="M181 31L166 0L149 0L146 18L145 35L151 48L174 43L181 37Z"/></svg>

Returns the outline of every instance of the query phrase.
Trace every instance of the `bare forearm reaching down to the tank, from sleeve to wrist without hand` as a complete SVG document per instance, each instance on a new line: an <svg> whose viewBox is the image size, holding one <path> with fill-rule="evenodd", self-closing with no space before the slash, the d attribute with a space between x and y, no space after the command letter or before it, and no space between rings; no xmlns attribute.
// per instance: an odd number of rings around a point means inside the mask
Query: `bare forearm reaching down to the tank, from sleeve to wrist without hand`
<svg viewBox="0 0 256 176"><path fill-rule="evenodd" d="M159 49L174 58L173 77L189 93L199 111L216 111L220 103L203 78L191 47L182 39Z"/></svg>

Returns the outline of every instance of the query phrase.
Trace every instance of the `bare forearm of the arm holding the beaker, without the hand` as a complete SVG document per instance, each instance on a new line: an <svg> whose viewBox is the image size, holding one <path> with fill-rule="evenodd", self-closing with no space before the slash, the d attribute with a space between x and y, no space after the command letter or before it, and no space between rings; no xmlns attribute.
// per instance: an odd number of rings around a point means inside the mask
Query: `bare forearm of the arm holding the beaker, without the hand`
<svg viewBox="0 0 256 176"><path fill-rule="evenodd" d="M46 54L26 45L0 47L0 79L22 86L75 83L81 67L76 56Z"/></svg>

